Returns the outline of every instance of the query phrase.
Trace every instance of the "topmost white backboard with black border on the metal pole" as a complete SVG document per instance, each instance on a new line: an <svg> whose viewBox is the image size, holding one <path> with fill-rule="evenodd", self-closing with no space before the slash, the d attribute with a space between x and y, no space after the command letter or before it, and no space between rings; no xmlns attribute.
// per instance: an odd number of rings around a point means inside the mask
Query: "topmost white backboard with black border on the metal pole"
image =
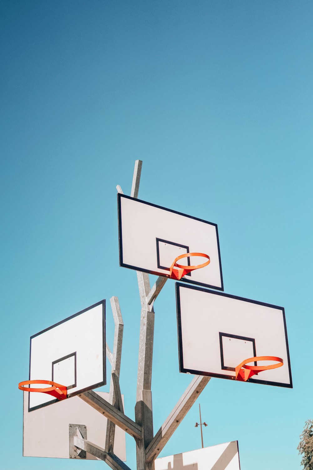
<svg viewBox="0 0 313 470"><path fill-rule="evenodd" d="M204 253L210 264L181 281L223 290L216 224L122 194L117 195L117 202L120 266L166 276L177 256ZM190 266L205 261L194 257L179 262Z"/></svg>

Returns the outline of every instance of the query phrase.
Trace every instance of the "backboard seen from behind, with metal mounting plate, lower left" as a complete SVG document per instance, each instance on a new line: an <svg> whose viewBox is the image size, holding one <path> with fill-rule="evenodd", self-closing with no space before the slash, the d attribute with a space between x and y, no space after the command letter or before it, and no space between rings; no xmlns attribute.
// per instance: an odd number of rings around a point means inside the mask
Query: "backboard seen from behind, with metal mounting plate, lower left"
<svg viewBox="0 0 313 470"><path fill-rule="evenodd" d="M109 393L97 392L105 400ZM23 456L69 458L69 425L84 424L87 440L105 447L107 418L78 397L61 400L54 407L28 411L29 392L23 392ZM124 397L122 395L123 404ZM115 427L114 454L126 460L125 431ZM99 460L91 454L86 459Z"/></svg>

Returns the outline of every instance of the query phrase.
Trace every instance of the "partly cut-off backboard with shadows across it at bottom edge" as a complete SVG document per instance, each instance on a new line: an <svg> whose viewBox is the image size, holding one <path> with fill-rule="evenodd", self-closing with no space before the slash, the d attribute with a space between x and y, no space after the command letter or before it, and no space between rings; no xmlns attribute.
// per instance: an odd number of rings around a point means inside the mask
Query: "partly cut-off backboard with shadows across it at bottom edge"
<svg viewBox="0 0 313 470"><path fill-rule="evenodd" d="M161 457L155 470L240 470L238 441Z"/></svg>

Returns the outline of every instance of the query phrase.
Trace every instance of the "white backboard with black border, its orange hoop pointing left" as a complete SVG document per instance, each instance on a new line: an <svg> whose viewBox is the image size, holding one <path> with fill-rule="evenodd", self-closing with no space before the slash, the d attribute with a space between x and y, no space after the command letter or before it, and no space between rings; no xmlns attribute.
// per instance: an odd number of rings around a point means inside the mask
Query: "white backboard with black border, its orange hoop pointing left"
<svg viewBox="0 0 313 470"><path fill-rule="evenodd" d="M31 337L29 380L66 385L68 398L105 385L105 362L105 300ZM47 393L31 392L29 411L57 401Z"/></svg>

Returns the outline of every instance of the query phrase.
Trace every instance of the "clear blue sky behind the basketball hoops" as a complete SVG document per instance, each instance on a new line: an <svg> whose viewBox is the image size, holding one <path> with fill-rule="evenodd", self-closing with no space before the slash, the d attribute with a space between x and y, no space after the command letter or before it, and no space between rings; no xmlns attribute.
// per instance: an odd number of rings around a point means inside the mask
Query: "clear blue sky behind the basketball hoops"
<svg viewBox="0 0 313 470"><path fill-rule="evenodd" d="M141 199L218 224L225 292L286 311L294 388L211 379L204 444L238 439L242 470L300 469L313 417L312 1L0 5L1 468L101 465L23 458L17 383L31 335L113 295L134 417L140 300L118 266L115 187L129 194L140 158ZM190 380L174 282L155 311L157 431ZM197 406L161 456L200 446ZM134 469L131 438L127 456Z"/></svg>

